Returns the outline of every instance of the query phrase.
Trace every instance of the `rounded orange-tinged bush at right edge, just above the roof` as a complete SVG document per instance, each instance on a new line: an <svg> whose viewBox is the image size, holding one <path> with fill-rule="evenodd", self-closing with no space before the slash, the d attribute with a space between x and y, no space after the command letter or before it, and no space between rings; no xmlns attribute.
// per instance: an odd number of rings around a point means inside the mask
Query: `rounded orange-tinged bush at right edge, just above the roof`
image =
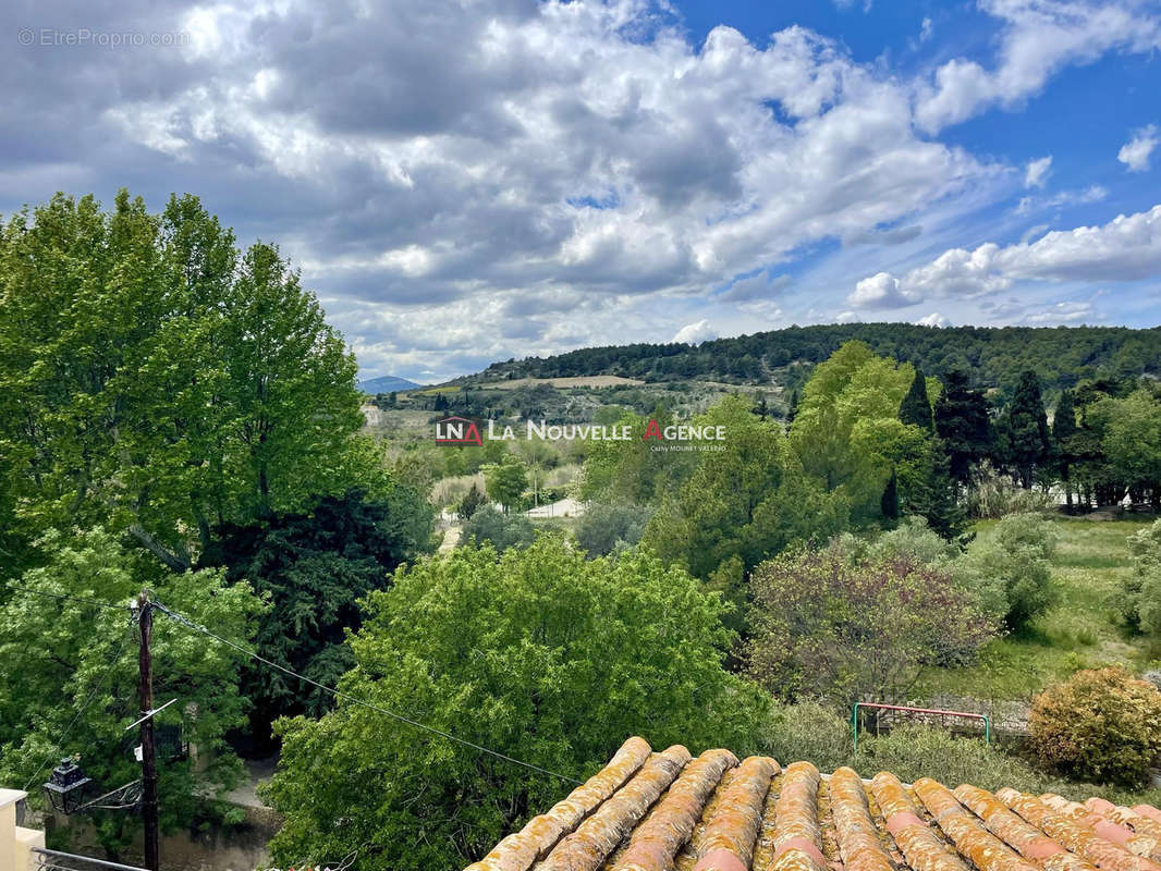
<svg viewBox="0 0 1161 871"><path fill-rule="evenodd" d="M1120 668L1077 671L1036 697L1030 726L1047 769L1138 786L1161 753L1161 691Z"/></svg>

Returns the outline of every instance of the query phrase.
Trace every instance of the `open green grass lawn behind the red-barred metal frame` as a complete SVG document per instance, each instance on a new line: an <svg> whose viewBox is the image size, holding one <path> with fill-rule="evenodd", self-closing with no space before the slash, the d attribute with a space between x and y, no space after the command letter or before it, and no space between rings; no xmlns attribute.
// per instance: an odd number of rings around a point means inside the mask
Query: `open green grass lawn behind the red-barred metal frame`
<svg viewBox="0 0 1161 871"><path fill-rule="evenodd" d="M1052 561L1057 604L1027 631L988 643L975 665L929 670L921 694L1026 699L1076 669L1122 664L1140 670L1161 657L1161 650L1128 636L1118 622L1122 582L1131 571L1125 539L1151 523L1053 520L1060 533Z"/></svg>

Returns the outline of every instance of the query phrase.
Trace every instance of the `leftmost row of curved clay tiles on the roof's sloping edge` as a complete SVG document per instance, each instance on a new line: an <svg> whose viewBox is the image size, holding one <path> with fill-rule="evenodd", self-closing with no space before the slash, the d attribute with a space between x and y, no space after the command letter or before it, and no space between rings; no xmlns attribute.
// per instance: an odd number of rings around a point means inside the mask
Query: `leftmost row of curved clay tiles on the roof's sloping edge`
<svg viewBox="0 0 1161 871"><path fill-rule="evenodd" d="M556 842L619 790L646 760L651 749L642 737L630 737L600 771L557 801L548 813L534 816L520 832L509 835L483 859L464 871L528 871Z"/></svg>

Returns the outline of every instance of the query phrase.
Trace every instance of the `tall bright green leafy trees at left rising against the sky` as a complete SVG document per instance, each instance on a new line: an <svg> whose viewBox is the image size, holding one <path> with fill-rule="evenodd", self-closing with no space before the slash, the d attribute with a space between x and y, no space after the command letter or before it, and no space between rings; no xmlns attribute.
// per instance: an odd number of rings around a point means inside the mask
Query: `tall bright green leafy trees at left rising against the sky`
<svg viewBox="0 0 1161 871"><path fill-rule="evenodd" d="M17 214L0 300L0 499L23 546L100 523L182 571L214 526L374 475L355 361L317 300L196 197Z"/></svg>

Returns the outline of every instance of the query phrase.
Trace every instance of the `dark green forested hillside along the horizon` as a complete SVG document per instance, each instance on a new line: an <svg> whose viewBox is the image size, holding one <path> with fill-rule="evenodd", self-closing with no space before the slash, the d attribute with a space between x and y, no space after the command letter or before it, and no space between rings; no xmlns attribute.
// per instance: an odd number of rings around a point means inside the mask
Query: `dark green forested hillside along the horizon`
<svg viewBox="0 0 1161 871"><path fill-rule="evenodd" d="M755 383L801 361L817 363L851 339L931 375L968 369L982 382L1011 389L1022 369L1036 369L1048 390L1081 379L1161 372L1161 327L957 326L823 324L789 326L693 346L683 343L578 348L549 358L509 360L476 379L622 375L647 381L717 379Z"/></svg>

